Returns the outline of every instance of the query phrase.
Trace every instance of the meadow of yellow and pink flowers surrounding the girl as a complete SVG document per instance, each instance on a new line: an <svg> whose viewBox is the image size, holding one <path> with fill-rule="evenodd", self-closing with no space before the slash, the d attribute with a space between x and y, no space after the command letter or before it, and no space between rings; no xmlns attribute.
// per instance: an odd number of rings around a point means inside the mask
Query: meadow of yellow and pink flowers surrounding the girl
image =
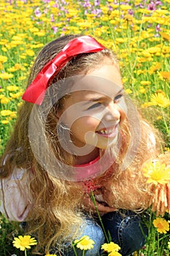
<svg viewBox="0 0 170 256"><path fill-rule="evenodd" d="M29 70L47 42L66 34L89 34L117 53L125 91L163 135L170 151L170 0L1 0L0 151L4 151L22 105ZM152 225L141 256L170 255L169 228ZM168 223L169 214L163 219ZM21 233L0 217L0 255L24 255L12 246ZM28 255L31 251L28 250Z"/></svg>

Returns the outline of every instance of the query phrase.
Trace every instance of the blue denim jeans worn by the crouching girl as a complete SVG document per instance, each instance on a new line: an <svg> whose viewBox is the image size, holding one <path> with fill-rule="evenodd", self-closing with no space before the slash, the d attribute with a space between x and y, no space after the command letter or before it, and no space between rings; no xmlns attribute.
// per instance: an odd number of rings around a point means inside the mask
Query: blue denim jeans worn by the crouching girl
<svg viewBox="0 0 170 256"><path fill-rule="evenodd" d="M112 241L120 246L121 249L119 252L121 255L131 255L132 252L144 246L148 232L147 226L144 223L147 221L147 216L144 214L135 214L132 211L124 211L124 213L114 211L109 214L104 214L101 219L106 233L109 233ZM85 251L85 256L104 255L104 252L101 250L101 245L107 243L107 241L98 219L87 218L81 227L81 231L80 238L86 235L95 242L93 249ZM82 251L77 249L77 247L75 247L75 249L77 256L82 256ZM52 249L52 252L58 254L54 249ZM68 244L63 246L61 255L74 256L72 246Z"/></svg>

